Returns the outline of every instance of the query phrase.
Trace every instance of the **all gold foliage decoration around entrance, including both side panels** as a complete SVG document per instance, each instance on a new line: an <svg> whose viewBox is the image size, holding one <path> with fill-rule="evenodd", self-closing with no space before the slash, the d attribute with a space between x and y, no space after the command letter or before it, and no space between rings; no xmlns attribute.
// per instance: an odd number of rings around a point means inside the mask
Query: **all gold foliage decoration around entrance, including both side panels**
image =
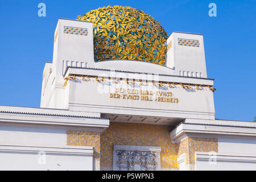
<svg viewBox="0 0 256 182"><path fill-rule="evenodd" d="M195 164L196 151L218 152L217 138L186 137L180 143L172 143L170 130L162 125L110 122L102 133L68 130L67 145L92 146L101 169L112 168L114 144L161 147L161 168L179 168L177 157L181 154L185 154L186 164Z"/></svg>

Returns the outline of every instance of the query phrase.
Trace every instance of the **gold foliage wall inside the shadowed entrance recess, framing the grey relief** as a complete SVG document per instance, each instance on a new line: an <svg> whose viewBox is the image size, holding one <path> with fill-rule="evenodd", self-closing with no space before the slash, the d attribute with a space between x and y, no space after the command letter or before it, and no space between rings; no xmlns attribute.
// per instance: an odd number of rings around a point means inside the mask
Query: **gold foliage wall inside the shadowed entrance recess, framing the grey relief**
<svg viewBox="0 0 256 182"><path fill-rule="evenodd" d="M101 169L113 166L114 144L161 147L161 167L178 168L177 144L171 142L169 132L162 125L111 122L101 134Z"/></svg>

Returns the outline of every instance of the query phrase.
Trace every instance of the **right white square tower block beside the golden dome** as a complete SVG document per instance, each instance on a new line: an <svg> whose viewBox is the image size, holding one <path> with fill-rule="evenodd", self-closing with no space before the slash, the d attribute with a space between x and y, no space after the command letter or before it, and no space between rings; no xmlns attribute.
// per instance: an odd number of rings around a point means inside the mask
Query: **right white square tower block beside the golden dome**
<svg viewBox="0 0 256 182"><path fill-rule="evenodd" d="M175 75L207 78L203 35L173 32L166 43L166 66Z"/></svg>

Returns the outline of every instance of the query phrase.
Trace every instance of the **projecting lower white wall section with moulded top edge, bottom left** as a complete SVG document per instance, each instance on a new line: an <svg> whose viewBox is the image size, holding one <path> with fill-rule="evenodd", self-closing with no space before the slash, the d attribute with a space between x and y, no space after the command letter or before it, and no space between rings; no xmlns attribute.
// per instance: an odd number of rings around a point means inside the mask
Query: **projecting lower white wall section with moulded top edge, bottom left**
<svg viewBox="0 0 256 182"><path fill-rule="evenodd" d="M73 147L75 149L71 147L1 145L0 170L92 170L92 147L79 147L79 150L77 149L78 147Z"/></svg>

